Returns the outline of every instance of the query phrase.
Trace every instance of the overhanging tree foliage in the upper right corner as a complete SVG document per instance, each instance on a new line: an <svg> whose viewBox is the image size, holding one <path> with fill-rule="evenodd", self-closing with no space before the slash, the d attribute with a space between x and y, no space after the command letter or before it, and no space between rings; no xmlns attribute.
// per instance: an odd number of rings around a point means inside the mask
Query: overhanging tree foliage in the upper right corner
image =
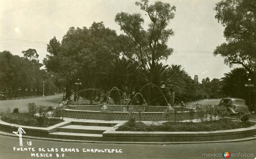
<svg viewBox="0 0 256 159"><path fill-rule="evenodd" d="M215 18L225 27L227 42L217 46L213 54L223 56L229 66L242 65L255 79L256 1L222 0L214 10Z"/></svg>

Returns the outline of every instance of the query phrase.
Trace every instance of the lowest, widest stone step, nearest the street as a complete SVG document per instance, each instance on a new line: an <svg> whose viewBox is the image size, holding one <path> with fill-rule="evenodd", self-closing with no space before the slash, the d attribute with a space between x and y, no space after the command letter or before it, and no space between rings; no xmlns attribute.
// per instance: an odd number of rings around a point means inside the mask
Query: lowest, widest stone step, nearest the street
<svg viewBox="0 0 256 159"><path fill-rule="evenodd" d="M67 140L102 141L102 134L54 132L50 133L49 137Z"/></svg>

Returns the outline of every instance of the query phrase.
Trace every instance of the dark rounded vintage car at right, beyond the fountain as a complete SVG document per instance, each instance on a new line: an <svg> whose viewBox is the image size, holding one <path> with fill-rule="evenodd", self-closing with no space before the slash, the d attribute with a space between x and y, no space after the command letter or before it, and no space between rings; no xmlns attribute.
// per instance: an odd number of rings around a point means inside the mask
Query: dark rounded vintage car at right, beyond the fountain
<svg viewBox="0 0 256 159"><path fill-rule="evenodd" d="M245 105L245 100L240 98L223 98L220 104L228 109L229 114L237 114L238 112L249 113L248 106Z"/></svg>

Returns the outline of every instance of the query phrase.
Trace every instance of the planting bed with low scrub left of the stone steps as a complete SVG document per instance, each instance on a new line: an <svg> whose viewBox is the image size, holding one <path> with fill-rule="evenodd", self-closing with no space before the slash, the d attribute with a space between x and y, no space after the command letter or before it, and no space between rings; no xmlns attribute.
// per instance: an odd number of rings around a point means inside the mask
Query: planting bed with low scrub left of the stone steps
<svg viewBox="0 0 256 159"><path fill-rule="evenodd" d="M62 119L31 116L30 113L3 113L1 120L11 124L35 127L49 127L62 122Z"/></svg>

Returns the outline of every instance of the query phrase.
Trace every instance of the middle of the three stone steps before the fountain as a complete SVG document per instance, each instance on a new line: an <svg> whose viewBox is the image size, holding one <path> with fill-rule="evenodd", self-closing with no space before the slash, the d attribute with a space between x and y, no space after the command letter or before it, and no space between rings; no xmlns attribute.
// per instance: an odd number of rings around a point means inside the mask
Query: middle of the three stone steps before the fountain
<svg viewBox="0 0 256 159"><path fill-rule="evenodd" d="M85 134L102 134L104 131L109 130L108 126L81 126L81 125L68 125L58 127L59 132L67 133L85 133Z"/></svg>

